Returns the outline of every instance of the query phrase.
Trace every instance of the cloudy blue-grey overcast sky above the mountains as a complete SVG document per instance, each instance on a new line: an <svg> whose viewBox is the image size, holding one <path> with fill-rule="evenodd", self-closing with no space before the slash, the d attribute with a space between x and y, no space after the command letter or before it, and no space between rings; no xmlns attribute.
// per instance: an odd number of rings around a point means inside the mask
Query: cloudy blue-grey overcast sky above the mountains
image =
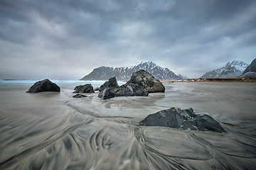
<svg viewBox="0 0 256 170"><path fill-rule="evenodd" d="M255 0L0 0L0 79L141 61L197 78L255 57Z"/></svg>

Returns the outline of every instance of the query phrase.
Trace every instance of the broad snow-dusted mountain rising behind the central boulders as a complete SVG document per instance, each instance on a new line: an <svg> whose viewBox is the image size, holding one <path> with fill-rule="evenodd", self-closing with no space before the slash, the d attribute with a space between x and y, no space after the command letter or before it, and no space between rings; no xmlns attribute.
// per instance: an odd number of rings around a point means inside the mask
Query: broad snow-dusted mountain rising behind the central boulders
<svg viewBox="0 0 256 170"><path fill-rule="evenodd" d="M110 77L117 77L117 80L129 80L132 73L137 72L139 69L146 70L160 80L184 78L181 74L177 75L171 72L170 69L160 67L154 62L139 62L131 67L98 67L81 80L107 80Z"/></svg>

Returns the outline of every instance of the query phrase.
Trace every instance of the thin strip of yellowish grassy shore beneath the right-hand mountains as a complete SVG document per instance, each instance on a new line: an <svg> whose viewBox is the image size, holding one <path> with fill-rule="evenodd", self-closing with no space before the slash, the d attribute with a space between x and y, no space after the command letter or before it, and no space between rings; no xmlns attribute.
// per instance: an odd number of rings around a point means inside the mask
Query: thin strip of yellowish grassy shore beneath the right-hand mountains
<svg viewBox="0 0 256 170"><path fill-rule="evenodd" d="M161 80L162 82L174 81L256 81L256 78L233 78L233 79L217 79L217 78L199 78L199 79L176 79L176 80Z"/></svg>

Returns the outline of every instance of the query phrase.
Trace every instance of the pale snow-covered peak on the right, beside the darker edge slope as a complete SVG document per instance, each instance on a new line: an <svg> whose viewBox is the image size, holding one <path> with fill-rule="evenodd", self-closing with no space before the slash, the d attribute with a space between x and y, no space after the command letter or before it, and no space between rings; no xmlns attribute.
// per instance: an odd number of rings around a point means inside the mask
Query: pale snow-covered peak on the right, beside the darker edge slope
<svg viewBox="0 0 256 170"><path fill-rule="evenodd" d="M228 62L220 69L206 72L201 78L236 78L239 77L248 66L245 62L236 61Z"/></svg>

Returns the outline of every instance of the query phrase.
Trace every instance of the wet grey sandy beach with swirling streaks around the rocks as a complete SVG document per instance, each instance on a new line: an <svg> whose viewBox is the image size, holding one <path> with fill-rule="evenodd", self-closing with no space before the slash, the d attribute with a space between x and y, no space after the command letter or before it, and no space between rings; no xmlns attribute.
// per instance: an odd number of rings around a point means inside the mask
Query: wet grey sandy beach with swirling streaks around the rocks
<svg viewBox="0 0 256 170"><path fill-rule="evenodd" d="M0 169L256 169L256 83L164 82L165 94L107 100L72 98L75 85L0 88ZM227 132L138 125L173 106Z"/></svg>

